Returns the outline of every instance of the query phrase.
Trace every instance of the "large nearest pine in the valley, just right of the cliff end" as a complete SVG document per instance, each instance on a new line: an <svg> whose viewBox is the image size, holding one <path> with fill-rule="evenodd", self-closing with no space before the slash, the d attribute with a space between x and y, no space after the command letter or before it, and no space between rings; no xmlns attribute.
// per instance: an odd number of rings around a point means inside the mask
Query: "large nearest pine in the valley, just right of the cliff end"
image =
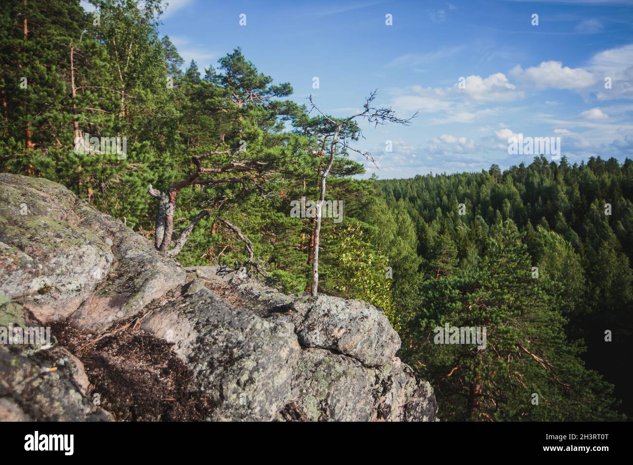
<svg viewBox="0 0 633 465"><path fill-rule="evenodd" d="M408 350L437 380L447 419L617 419L612 388L578 358L565 319L530 276L530 258L511 221L495 225L474 273L420 288L418 337ZM434 344L444 325L486 328L486 347ZM536 397L536 395L537 397ZM538 403L536 404L536 399Z"/></svg>

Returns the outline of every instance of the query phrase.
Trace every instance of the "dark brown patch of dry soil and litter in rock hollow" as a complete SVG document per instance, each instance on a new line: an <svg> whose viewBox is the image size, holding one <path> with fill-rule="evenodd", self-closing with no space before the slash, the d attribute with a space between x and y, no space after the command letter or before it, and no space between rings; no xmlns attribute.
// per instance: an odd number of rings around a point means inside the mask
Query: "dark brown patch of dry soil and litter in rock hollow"
<svg viewBox="0 0 633 465"><path fill-rule="evenodd" d="M91 383L89 397L117 421L200 421L213 410L211 399L189 392L191 370L165 340L120 321L103 337L54 323L61 345L80 357ZM124 329L122 329L124 328Z"/></svg>

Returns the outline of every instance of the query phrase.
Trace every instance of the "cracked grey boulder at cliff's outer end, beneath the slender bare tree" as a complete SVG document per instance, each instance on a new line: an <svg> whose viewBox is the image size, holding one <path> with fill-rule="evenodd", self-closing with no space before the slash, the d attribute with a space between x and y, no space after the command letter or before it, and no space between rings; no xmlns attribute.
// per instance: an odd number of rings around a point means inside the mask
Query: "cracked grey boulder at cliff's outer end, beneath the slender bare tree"
<svg viewBox="0 0 633 465"><path fill-rule="evenodd" d="M433 389L396 357L400 338L382 311L357 299L290 296L239 272L186 268L225 301L290 323L301 346L277 419L435 421Z"/></svg>

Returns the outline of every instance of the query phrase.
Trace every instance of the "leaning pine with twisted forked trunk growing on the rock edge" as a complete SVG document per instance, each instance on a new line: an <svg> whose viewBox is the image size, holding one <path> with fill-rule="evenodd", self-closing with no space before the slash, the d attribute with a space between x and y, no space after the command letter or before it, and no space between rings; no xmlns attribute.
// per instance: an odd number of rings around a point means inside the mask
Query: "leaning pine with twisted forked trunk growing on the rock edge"
<svg viewBox="0 0 633 465"><path fill-rule="evenodd" d="M244 242L248 252L244 266L248 272L263 271L254 257L251 240L227 216L234 214L240 204L253 196L262 199L278 197L280 187L294 171L294 165L305 156L301 149L303 138L294 134L265 133L248 118L242 120L241 125L242 132L249 134L251 142L242 140L237 147L221 144L216 150L193 155L193 169L165 192L149 185L149 194L158 200L154 226L156 250L167 256L177 256L196 224L211 215L216 223ZM174 240L174 216L183 190L191 191L187 201L201 209Z"/></svg>

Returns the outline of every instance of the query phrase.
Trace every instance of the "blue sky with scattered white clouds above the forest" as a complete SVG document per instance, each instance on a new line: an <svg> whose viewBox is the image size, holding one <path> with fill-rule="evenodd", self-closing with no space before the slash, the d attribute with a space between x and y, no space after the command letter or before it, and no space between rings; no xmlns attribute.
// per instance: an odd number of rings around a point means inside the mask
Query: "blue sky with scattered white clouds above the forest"
<svg viewBox="0 0 633 465"><path fill-rule="evenodd" d="M508 154L517 133L561 137L572 163L633 158L633 1L171 3L161 33L187 63L215 65L240 46L275 82L290 82L294 100L313 94L334 116L360 108L374 89L399 116L418 111L410 127L365 128L358 148L380 168L367 164L368 175L529 163L532 155Z"/></svg>

